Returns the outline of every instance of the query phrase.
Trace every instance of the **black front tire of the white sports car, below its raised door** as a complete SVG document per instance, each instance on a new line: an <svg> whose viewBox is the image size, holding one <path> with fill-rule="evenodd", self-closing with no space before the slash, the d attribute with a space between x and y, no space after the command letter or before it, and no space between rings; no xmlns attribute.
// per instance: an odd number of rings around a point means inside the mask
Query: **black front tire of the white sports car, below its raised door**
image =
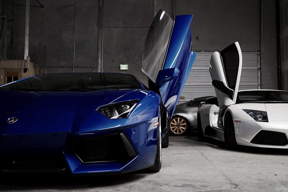
<svg viewBox="0 0 288 192"><path fill-rule="evenodd" d="M227 112L224 119L224 141L229 149L236 149L238 147L235 138L233 118L229 112Z"/></svg>

